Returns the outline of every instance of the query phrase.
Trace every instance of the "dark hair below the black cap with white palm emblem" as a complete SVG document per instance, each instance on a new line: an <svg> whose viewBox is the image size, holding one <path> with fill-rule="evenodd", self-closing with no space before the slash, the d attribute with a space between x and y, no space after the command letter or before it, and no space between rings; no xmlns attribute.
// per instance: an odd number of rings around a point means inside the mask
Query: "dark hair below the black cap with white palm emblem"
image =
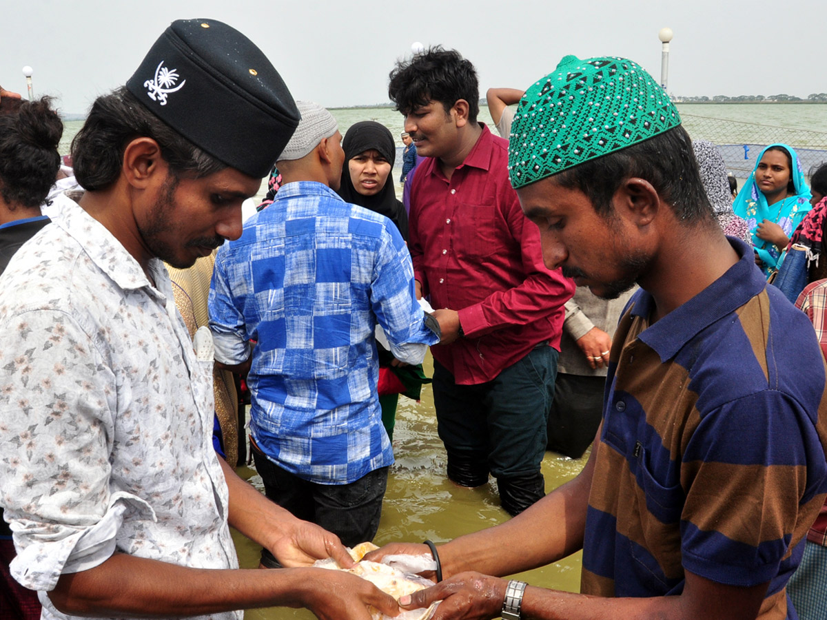
<svg viewBox="0 0 827 620"><path fill-rule="evenodd" d="M213 155L181 136L138 103L126 88L98 97L72 141L78 183L90 191L106 189L121 174L123 151L137 137L152 138L175 176L199 179L227 168Z"/></svg>

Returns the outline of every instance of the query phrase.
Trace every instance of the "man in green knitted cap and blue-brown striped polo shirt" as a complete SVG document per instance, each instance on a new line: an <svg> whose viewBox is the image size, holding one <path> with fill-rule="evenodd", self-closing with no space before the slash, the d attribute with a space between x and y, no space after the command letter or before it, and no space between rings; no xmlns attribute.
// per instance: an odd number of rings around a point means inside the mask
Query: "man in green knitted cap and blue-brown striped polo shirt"
<svg viewBox="0 0 827 620"><path fill-rule="evenodd" d="M785 584L827 492L825 365L715 222L676 108L629 60L566 57L521 100L509 171L547 266L604 298L641 290L581 474L439 547L447 579L400 603L444 599L440 620L796 618ZM480 575L581 548L590 596Z"/></svg>

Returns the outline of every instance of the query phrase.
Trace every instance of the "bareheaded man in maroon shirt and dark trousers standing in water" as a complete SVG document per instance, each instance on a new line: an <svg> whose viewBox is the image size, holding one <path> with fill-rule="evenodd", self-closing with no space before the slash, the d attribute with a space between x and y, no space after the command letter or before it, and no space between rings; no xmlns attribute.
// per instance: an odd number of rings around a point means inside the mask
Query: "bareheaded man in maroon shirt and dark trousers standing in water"
<svg viewBox="0 0 827 620"><path fill-rule="evenodd" d="M557 374L563 304L574 284L543 265L538 228L508 179L508 142L476 121L474 65L431 48L390 74L419 166L409 249L417 294L442 327L433 393L448 478L497 479L503 508L544 494L540 462Z"/></svg>

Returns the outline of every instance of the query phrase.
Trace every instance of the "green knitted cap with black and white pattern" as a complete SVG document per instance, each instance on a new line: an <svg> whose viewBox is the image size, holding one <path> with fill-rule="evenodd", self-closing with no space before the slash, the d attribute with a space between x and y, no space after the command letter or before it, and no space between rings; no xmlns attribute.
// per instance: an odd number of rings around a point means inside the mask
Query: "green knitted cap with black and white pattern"
<svg viewBox="0 0 827 620"><path fill-rule="evenodd" d="M509 136L515 189L681 124L667 93L624 58L566 56L520 100Z"/></svg>

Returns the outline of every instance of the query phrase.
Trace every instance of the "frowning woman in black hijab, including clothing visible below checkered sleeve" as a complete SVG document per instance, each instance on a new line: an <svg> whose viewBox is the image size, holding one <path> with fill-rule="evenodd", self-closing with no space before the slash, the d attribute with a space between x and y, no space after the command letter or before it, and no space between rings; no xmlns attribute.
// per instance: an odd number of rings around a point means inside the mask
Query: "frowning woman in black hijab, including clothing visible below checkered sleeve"
<svg viewBox="0 0 827 620"><path fill-rule="evenodd" d="M380 213L390 219L399 234L408 241L408 213L396 199L390 171L394 168L396 145L390 131L374 121L357 122L351 126L342 141L345 163L342 165L342 184L339 195L347 203ZM382 425L388 437L394 438L396 404L403 393L419 399L423 384L431 383L422 365L397 365L390 351L376 343L379 354L379 404L382 408Z"/></svg>

